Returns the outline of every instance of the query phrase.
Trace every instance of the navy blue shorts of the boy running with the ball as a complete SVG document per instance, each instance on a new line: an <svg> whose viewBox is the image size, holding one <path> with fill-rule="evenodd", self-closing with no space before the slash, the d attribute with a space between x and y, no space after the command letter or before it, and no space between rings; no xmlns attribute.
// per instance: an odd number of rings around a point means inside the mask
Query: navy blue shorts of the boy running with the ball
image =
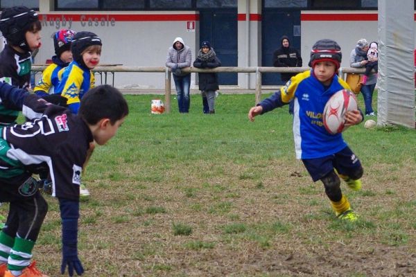
<svg viewBox="0 0 416 277"><path fill-rule="evenodd" d="M336 154L316 159L302 159L302 162L313 181L322 179L334 168L339 174L347 176L354 175L354 172L362 168L360 160L348 146Z"/></svg>

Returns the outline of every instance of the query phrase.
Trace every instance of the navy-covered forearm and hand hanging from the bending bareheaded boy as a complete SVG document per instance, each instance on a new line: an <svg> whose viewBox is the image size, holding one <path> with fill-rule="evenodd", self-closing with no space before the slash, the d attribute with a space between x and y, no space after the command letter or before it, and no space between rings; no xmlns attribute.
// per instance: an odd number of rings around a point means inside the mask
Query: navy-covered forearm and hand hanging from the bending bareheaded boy
<svg viewBox="0 0 416 277"><path fill-rule="evenodd" d="M62 264L61 274L68 267L69 276L75 270L78 275L84 273L83 264L78 258L78 219L80 217L80 203L75 200L59 199L62 220Z"/></svg>

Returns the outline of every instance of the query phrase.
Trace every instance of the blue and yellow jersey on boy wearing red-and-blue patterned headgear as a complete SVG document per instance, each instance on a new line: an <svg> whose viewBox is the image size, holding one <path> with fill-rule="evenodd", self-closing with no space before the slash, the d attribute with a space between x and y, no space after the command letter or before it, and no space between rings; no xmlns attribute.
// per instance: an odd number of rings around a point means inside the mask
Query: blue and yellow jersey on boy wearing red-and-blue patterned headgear
<svg viewBox="0 0 416 277"><path fill-rule="evenodd" d="M58 72L69 65L69 62L62 62L57 56L53 56L52 61L53 63L49 64L42 72L42 77L37 82L35 89L33 89L38 96L42 97L55 93L60 81Z"/></svg>

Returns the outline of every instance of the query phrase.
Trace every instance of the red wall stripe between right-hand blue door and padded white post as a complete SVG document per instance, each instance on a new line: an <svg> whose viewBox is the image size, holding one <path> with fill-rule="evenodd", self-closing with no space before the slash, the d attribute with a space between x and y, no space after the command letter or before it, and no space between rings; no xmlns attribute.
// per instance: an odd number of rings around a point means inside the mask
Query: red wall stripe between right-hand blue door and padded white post
<svg viewBox="0 0 416 277"><path fill-rule="evenodd" d="M302 14L300 21L377 21L376 13Z"/></svg>

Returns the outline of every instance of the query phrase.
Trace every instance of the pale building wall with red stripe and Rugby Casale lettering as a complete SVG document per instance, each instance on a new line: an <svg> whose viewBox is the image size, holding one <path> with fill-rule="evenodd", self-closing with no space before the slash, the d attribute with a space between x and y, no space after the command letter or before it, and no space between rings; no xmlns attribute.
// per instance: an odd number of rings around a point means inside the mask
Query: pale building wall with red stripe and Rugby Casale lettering
<svg viewBox="0 0 416 277"><path fill-rule="evenodd" d="M42 47L35 64L42 64L54 55L52 35L60 28L87 30L101 37L101 64L165 66L168 48L175 37L182 37L191 47L192 62L199 48L199 15L195 11L41 12L40 20ZM100 78L96 77L99 83ZM119 88L163 89L164 84L164 73L116 73L114 80L114 86ZM191 86L194 85L195 75L192 74Z"/></svg>

